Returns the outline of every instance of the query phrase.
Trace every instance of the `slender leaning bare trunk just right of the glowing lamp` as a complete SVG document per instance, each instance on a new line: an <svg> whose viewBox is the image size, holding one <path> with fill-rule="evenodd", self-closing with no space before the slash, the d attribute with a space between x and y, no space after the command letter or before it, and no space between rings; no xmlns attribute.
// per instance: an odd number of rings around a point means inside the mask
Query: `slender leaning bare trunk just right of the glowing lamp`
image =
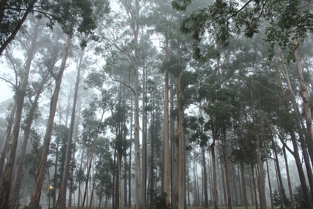
<svg viewBox="0 0 313 209"><path fill-rule="evenodd" d="M71 146L72 146L72 138L73 138L73 131L74 131L74 122L75 122L75 114L76 114L76 104L77 104L77 95L78 95L78 88L79 88L79 81L80 81L80 72L82 69L82 62L84 58L85 50L81 51L79 65L77 69L77 76L76 76L76 83L75 83L75 91L74 91L74 100L73 100L73 107L72 107L72 115L70 118L70 125L69 125L69 132L68 132L68 139L67 139L67 153L64 163L64 172L63 178L61 183L61 188L59 192L59 205L58 209L65 209L66 207L66 200L67 200L67 176L69 171L69 162L71 159Z"/></svg>

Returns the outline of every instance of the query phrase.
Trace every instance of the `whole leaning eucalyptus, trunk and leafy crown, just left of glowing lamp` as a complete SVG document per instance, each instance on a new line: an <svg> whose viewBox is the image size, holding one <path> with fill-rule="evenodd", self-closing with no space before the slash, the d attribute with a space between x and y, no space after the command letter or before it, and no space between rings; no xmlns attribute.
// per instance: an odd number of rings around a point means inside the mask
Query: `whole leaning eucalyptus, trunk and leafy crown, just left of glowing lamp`
<svg viewBox="0 0 313 209"><path fill-rule="evenodd" d="M42 189L43 180L44 180L44 171L45 171L46 160L47 160L49 144L50 144L50 139L51 139L52 126L53 126L53 121L54 121L54 115L55 115L56 105L57 105L58 96L60 92L63 72L66 68L67 56L69 53L69 47L71 45L72 36L74 34L80 35L81 47L86 46L88 39L95 38L93 36L93 30L96 28L96 24L95 24L95 20L93 17L93 11L91 8L92 5L90 1L88 0L82 0L79 2L80 3L72 2L72 3L67 4L67 8L65 10L65 11L70 11L71 14L69 17L74 17L74 19L72 19L72 21L70 22L71 24L69 28L66 28L66 27L62 28L68 34L68 37L67 37L67 42L65 44L59 72L58 74L53 75L55 78L55 89L53 92L53 96L51 98L49 118L47 122L47 128L46 128L45 139L44 139L44 148L41 153L38 175L35 181L31 202L29 204L30 209L35 209L39 207L41 189ZM79 18L77 17L78 14L80 14Z"/></svg>

